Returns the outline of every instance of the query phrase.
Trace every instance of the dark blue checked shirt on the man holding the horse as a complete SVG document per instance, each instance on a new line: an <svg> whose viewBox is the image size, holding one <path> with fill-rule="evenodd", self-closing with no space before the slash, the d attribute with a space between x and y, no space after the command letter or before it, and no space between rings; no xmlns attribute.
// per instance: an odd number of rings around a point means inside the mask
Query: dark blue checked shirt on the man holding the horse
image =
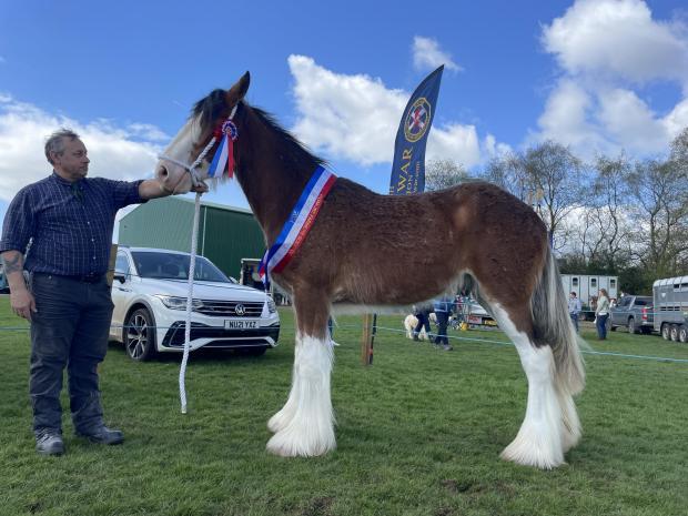
<svg viewBox="0 0 688 516"><path fill-rule="evenodd" d="M114 215L145 202L141 181L50 176L19 191L2 224L0 252L26 252L24 269L64 276L104 274L110 260Z"/></svg>

